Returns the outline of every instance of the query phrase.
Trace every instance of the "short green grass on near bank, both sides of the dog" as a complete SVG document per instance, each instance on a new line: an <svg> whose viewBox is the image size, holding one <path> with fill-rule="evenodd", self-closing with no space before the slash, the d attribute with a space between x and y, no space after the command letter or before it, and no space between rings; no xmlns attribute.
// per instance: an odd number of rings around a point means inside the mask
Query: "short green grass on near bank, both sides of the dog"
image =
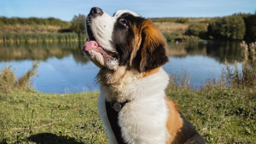
<svg viewBox="0 0 256 144"><path fill-rule="evenodd" d="M167 89L208 143L256 141L255 89ZM55 95L31 89L0 94L0 143L108 143L99 93Z"/></svg>

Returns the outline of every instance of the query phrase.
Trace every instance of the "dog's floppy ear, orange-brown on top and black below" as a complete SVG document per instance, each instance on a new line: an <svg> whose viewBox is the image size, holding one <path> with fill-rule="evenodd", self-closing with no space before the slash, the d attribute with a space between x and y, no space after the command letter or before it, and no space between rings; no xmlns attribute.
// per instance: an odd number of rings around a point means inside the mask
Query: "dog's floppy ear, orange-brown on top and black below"
<svg viewBox="0 0 256 144"><path fill-rule="evenodd" d="M143 20L141 28L142 40L137 55L140 55L139 72L146 72L168 62L167 44L164 36L151 20Z"/></svg>

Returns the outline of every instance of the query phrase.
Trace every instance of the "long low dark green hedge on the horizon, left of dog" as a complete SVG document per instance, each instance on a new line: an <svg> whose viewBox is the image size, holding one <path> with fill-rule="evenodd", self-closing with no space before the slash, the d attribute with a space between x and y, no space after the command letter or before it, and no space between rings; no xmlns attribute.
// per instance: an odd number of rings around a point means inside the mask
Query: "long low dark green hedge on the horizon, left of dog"
<svg viewBox="0 0 256 144"><path fill-rule="evenodd" d="M69 22L56 19L53 17L49 18L18 18L18 17L0 17L0 26L3 25L46 25L46 26L69 26Z"/></svg>

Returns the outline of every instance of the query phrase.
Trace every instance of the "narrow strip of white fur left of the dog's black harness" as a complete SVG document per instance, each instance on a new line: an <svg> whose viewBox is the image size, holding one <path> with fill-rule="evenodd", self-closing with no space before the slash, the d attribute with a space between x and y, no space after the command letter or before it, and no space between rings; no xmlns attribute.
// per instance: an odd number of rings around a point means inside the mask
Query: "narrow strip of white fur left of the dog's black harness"
<svg viewBox="0 0 256 144"><path fill-rule="evenodd" d="M105 98L102 94L100 95L100 98L98 101L98 112L102 119L102 123L104 124L105 129L107 130L109 143L110 144L118 144L118 142L116 141L115 136L113 134L111 125L109 124L109 121L108 121L108 115L107 115L106 106L105 106Z"/></svg>

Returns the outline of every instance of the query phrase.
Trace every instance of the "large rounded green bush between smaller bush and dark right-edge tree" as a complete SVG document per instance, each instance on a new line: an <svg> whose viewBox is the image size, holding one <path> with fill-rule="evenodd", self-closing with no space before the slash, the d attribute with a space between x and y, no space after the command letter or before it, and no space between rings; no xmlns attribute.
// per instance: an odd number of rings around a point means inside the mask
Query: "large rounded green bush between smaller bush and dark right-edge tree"
<svg viewBox="0 0 256 144"><path fill-rule="evenodd" d="M213 19L208 26L208 35L214 39L243 39L245 23L240 15L231 15Z"/></svg>

